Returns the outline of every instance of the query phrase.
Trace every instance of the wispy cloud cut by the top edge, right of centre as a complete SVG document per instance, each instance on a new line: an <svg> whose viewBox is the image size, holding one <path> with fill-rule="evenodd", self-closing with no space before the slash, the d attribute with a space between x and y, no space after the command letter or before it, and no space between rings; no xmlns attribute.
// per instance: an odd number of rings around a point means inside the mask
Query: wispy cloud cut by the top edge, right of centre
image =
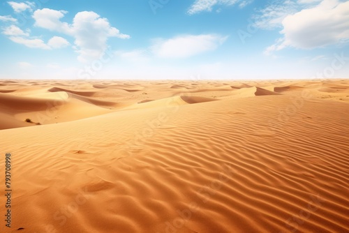
<svg viewBox="0 0 349 233"><path fill-rule="evenodd" d="M188 9L189 15L194 15L202 11L212 11L214 6L232 6L239 3L239 7L243 8L253 0L195 0L193 5Z"/></svg>

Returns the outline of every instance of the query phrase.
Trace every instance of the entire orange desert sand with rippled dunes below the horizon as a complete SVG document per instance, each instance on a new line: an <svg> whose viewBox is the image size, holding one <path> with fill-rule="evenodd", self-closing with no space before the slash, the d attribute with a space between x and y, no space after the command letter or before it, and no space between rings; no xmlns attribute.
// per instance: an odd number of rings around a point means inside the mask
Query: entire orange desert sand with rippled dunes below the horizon
<svg viewBox="0 0 349 233"><path fill-rule="evenodd" d="M0 117L0 232L349 232L349 80L0 80Z"/></svg>

